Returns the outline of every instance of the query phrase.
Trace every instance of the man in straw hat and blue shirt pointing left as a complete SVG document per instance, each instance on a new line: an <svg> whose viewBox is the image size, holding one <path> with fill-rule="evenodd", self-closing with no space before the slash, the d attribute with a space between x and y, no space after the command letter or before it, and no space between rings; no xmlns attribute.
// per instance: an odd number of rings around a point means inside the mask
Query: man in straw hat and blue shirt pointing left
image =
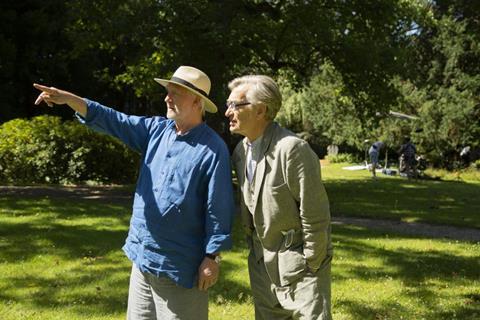
<svg viewBox="0 0 480 320"><path fill-rule="evenodd" d="M166 118L126 115L39 84L35 104L67 104L82 123L142 155L123 247L133 262L127 318L207 319L207 289L218 279L220 252L231 247L229 152L202 120L217 112L205 73L182 66L155 80L167 90Z"/></svg>

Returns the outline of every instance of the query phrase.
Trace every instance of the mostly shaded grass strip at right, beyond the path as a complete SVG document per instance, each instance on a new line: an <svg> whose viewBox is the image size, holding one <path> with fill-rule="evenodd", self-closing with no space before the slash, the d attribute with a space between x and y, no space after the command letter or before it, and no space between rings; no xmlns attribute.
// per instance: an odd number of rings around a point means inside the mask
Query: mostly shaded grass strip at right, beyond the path
<svg viewBox="0 0 480 320"><path fill-rule="evenodd" d="M480 228L480 180L408 180L367 170L322 167L332 215Z"/></svg>

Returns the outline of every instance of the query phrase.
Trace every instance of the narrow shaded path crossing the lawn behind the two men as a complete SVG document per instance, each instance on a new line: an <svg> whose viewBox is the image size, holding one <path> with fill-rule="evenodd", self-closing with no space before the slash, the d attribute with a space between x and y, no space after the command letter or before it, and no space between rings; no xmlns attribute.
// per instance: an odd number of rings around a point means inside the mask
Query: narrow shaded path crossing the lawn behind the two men
<svg viewBox="0 0 480 320"><path fill-rule="evenodd" d="M132 188L109 186L0 186L0 197L48 197L100 201L106 200L128 205L132 201L132 190ZM480 242L480 229L475 228L461 228L447 225L433 225L395 220L354 218L348 216L334 216L332 217L332 224L356 225L395 234Z"/></svg>

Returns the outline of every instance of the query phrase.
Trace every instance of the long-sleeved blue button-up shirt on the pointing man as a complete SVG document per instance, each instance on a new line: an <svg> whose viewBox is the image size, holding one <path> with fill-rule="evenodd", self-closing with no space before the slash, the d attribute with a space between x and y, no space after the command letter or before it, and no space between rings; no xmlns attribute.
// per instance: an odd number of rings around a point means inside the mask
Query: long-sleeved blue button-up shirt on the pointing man
<svg viewBox="0 0 480 320"><path fill-rule="evenodd" d="M129 116L85 100L81 122L142 155L123 250L141 271L192 288L205 254L231 248L234 204L225 143L205 123L177 135L173 120Z"/></svg>

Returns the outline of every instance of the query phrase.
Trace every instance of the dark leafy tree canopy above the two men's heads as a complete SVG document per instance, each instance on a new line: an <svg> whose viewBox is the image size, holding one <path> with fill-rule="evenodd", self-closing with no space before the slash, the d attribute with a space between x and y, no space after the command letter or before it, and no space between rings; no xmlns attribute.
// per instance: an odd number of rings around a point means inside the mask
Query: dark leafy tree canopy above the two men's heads
<svg viewBox="0 0 480 320"><path fill-rule="evenodd" d="M375 105L385 108L395 97L386 79L402 68L408 51L405 33L424 10L421 3L381 0L328 5L32 0L0 6L0 40L5 40L0 56L7 62L0 65L6 80L0 83L4 92L14 89L13 96L22 98L21 109L28 115L35 112L33 79L122 111L153 113L162 92L153 77L168 76L181 64L206 71L212 98L221 104L228 95L226 84L235 76L284 74L298 87L310 81L325 59L342 74L347 96L361 111L357 115L372 114ZM10 96L0 99L12 110L7 119L18 109Z"/></svg>

